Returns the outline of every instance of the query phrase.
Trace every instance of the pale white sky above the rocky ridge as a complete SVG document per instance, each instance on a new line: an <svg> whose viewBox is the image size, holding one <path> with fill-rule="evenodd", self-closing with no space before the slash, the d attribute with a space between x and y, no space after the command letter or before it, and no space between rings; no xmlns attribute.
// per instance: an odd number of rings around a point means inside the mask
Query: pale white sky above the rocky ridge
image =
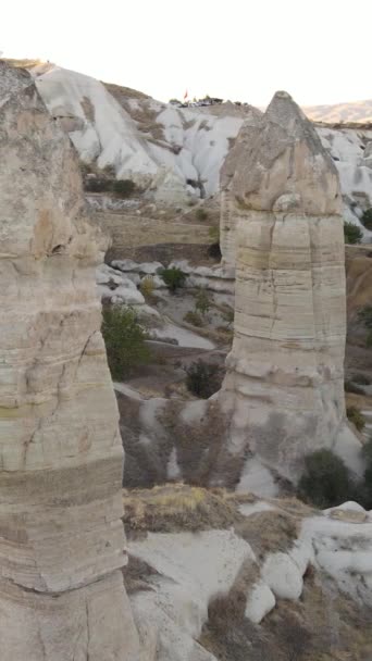
<svg viewBox="0 0 372 661"><path fill-rule="evenodd" d="M17 0L0 51L40 58L162 101L265 105L372 98L372 0Z"/></svg>

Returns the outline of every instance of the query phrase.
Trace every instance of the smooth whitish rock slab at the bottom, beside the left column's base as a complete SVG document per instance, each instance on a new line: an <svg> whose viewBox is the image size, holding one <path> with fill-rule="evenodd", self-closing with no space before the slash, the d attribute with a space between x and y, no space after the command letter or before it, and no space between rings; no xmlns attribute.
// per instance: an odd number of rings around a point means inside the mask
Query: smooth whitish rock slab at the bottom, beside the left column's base
<svg viewBox="0 0 372 661"><path fill-rule="evenodd" d="M157 661L214 661L196 640L212 597L230 591L243 563L256 562L249 544L232 531L149 533L128 551L158 572L151 590L132 598L142 637L159 632Z"/></svg>

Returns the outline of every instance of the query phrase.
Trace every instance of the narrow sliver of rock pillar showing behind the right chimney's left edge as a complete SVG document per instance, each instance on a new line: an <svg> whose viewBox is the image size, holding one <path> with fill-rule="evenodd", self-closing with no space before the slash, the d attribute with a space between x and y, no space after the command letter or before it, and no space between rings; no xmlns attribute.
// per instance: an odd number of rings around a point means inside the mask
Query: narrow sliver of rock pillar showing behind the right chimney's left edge
<svg viewBox="0 0 372 661"><path fill-rule="evenodd" d="M235 142L222 164L220 171L220 247L224 266L235 267L236 261L236 224L239 210L234 204L232 190L234 174L245 167L247 149L260 130L263 114L258 108L251 107L241 125Z"/></svg>

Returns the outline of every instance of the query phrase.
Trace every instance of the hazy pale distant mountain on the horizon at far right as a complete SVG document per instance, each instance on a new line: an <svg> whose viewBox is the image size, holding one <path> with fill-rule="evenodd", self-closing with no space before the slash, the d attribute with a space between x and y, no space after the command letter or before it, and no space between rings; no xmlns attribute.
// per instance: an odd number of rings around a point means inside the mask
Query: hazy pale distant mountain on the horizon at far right
<svg viewBox="0 0 372 661"><path fill-rule="evenodd" d="M327 124L372 122L372 99L367 101L350 101L333 105L307 105L302 108L305 114L314 122Z"/></svg>

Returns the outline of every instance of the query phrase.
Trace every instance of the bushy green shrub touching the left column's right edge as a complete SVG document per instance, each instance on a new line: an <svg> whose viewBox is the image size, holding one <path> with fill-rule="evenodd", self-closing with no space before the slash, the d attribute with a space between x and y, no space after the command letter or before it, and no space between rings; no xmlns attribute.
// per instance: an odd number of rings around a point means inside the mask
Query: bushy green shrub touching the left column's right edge
<svg viewBox="0 0 372 661"><path fill-rule="evenodd" d="M104 307L102 335L112 378L123 379L134 367L151 360L151 350L145 341L146 329L132 308Z"/></svg>

